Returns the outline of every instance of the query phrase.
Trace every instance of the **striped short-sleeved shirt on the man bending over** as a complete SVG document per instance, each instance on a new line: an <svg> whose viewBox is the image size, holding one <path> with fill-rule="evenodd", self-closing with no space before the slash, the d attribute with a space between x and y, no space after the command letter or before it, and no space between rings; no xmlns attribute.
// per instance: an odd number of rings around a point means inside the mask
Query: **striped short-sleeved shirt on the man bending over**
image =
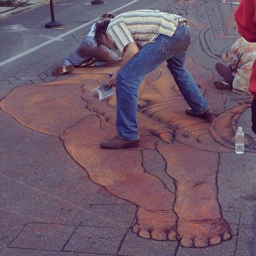
<svg viewBox="0 0 256 256"><path fill-rule="evenodd" d="M172 36L181 16L163 13L159 10L133 10L113 18L107 28L107 35L123 52L125 46L135 42L142 47L156 40L159 34Z"/></svg>

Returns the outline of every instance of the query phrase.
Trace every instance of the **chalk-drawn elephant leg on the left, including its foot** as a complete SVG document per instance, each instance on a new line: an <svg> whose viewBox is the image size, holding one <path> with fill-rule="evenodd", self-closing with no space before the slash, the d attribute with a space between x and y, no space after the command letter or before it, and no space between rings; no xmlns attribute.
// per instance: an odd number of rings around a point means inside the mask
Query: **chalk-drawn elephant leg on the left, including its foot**
<svg viewBox="0 0 256 256"><path fill-rule="evenodd" d="M102 129L102 120L88 115L67 129L61 138L69 154L87 170L90 179L111 194L138 206L137 232L144 238L166 240L174 236L177 216L174 194L143 167L143 150L153 149L157 138L141 136L143 148L103 150L100 141L113 136ZM86 136L85 136L86 132Z"/></svg>

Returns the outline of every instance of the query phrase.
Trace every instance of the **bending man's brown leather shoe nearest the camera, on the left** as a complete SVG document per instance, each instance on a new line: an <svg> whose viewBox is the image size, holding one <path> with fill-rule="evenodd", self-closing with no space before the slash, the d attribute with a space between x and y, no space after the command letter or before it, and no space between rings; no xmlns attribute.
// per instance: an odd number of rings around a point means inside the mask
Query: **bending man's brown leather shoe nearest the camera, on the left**
<svg viewBox="0 0 256 256"><path fill-rule="evenodd" d="M121 149L121 148L138 148L140 146L140 140L137 141L125 141L118 136L115 136L109 141L103 141L100 143L100 148L103 149Z"/></svg>

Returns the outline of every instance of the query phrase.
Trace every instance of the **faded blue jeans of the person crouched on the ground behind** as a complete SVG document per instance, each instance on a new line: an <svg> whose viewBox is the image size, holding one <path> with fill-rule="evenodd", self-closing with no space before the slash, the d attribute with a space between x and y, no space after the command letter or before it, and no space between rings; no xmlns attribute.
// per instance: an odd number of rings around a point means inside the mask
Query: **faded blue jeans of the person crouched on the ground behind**
<svg viewBox="0 0 256 256"><path fill-rule="evenodd" d="M97 47L94 38L86 36L80 45L61 62L61 66L77 67L89 58L93 58L95 66L101 66L118 61L119 56L104 45Z"/></svg>

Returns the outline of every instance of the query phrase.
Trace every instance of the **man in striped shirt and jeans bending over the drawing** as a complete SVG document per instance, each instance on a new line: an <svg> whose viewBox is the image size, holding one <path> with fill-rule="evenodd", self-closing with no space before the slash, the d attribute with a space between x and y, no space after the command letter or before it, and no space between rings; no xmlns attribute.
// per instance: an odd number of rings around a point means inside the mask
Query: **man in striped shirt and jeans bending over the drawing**
<svg viewBox="0 0 256 256"><path fill-rule="evenodd" d="M121 68L109 82L109 87L116 86L118 136L102 142L101 148L139 146L138 88L148 73L164 61L190 106L185 113L212 121L212 110L184 67L190 44L190 29L185 18L159 10L121 13L112 20L96 23L95 41L97 46L119 49L123 53Z"/></svg>

